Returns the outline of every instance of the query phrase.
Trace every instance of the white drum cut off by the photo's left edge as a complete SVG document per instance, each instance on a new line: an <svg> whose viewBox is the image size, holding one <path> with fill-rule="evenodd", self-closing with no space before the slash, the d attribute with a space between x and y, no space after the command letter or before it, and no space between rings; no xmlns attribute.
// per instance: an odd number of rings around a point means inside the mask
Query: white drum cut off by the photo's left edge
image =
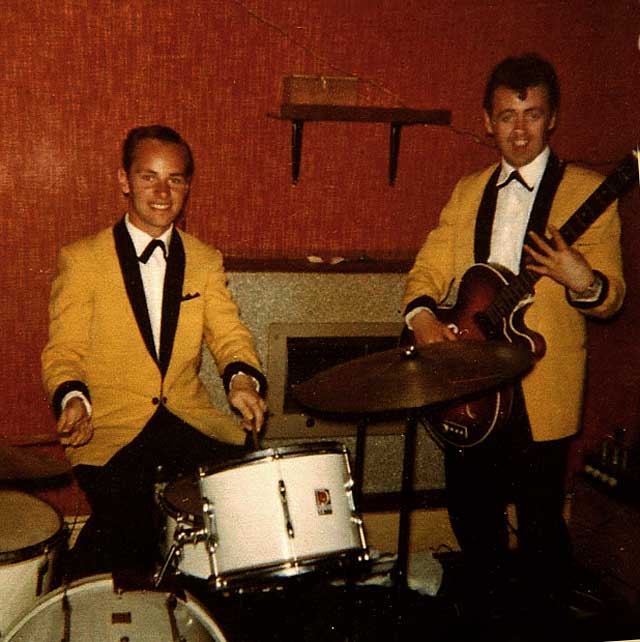
<svg viewBox="0 0 640 642"><path fill-rule="evenodd" d="M62 517L41 499L0 491L0 637L52 588L65 539Z"/></svg>

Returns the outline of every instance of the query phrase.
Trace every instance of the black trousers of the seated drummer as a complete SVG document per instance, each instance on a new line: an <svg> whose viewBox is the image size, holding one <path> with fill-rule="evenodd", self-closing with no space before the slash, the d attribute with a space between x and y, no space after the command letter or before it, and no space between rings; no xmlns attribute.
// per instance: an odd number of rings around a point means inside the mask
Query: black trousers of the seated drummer
<svg viewBox="0 0 640 642"><path fill-rule="evenodd" d="M104 466L75 466L91 516L70 552L69 579L121 571L148 575L158 562L161 536L156 483L245 452L203 435L161 406Z"/></svg>

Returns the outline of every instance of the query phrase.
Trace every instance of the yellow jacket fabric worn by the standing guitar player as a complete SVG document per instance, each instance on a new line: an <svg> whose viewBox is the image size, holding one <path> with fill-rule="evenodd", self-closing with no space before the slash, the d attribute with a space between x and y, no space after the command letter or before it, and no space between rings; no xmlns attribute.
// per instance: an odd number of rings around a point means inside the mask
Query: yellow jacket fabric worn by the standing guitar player
<svg viewBox="0 0 640 642"><path fill-rule="evenodd" d="M408 275L404 305L430 297L437 305L455 302L465 271L476 262L475 224L485 187L497 165L467 176L456 185L440 222L427 237ZM602 176L569 165L558 187L548 222L561 225L602 182ZM531 223L530 223L531 225ZM522 386L536 441L575 434L580 426L586 364L585 316L614 314L622 305L625 283L620 250L620 220L610 206L574 243L607 281L606 297L595 307L570 305L565 288L540 279L528 308L526 326L546 341L546 354L523 378Z"/></svg>

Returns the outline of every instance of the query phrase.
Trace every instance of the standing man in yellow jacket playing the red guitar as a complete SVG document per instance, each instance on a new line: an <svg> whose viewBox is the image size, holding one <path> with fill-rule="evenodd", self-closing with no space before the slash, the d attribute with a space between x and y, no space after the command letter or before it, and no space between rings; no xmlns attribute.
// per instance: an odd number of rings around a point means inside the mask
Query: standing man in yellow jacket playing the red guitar
<svg viewBox="0 0 640 642"><path fill-rule="evenodd" d="M474 626L475 617L514 613L516 605L506 601L514 593L506 590L510 502L523 590L517 607L531 608L539 623L553 621L547 610L566 612L564 477L580 425L585 316L612 315L625 293L615 204L571 247L558 232L602 182L594 172L565 166L549 148L558 105L555 70L537 55L507 58L494 68L484 122L501 159L458 182L404 294L407 326L424 346L464 339L439 320L438 307L456 301L460 279L474 263L498 264L513 274L526 265L540 275L525 321L544 337L546 353L516 385L509 420L478 445L445 446L449 517L465 559L462 608Z"/></svg>

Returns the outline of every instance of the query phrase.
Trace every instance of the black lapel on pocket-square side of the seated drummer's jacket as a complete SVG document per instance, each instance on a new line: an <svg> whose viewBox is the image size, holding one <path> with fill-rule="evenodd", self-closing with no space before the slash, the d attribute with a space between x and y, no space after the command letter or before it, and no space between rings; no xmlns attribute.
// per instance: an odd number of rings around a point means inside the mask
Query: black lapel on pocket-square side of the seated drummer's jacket
<svg viewBox="0 0 640 642"><path fill-rule="evenodd" d="M169 244L167 273L164 278L162 295L162 328L160 330L160 371L164 376L169 367L173 340L178 327L180 303L182 301L182 284L184 282L185 253L182 239L174 228Z"/></svg>

